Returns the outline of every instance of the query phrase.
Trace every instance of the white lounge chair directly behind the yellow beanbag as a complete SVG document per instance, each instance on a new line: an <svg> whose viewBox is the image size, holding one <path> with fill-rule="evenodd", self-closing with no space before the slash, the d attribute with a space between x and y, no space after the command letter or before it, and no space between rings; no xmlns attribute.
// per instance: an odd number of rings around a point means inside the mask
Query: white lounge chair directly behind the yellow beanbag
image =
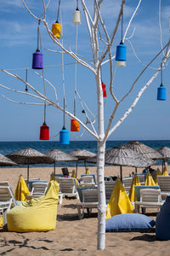
<svg viewBox="0 0 170 256"><path fill-rule="evenodd" d="M45 195L48 189L48 183L32 183L31 195L27 195L27 199L37 198Z"/></svg>

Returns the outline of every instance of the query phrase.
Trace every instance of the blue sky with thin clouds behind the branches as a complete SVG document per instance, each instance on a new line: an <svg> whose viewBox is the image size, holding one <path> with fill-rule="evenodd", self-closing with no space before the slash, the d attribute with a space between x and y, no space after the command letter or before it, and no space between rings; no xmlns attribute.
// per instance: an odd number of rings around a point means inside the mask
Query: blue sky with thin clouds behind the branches
<svg viewBox="0 0 170 256"><path fill-rule="evenodd" d="M93 15L93 1L87 0L89 12ZM48 1L45 1L48 3ZM124 7L123 32L127 23L133 15L133 11L139 1L127 1ZM42 14L42 1L26 0L26 4L31 12L38 17ZM59 1L51 0L47 9L48 26L51 27L56 20ZM59 23L63 29L63 43L66 49L75 51L76 45L76 26L72 23L73 12L76 9L76 0L61 0ZM105 26L111 35L115 25L117 14L120 9L120 0L104 0L101 6L101 15L105 20ZM161 6L161 15L159 9ZM88 61L92 60L91 46L88 37L88 29L84 19L83 10L79 1L79 9L82 12L82 24L78 26L77 53ZM133 45L136 55L133 53L131 44L125 40L127 46L127 67L116 67L113 60L113 69L116 73L113 82L113 89L116 97L120 99L127 93L133 81L137 79L139 73L144 69L155 55L161 50L161 41L164 46L169 38L169 16L170 0L143 0L133 18L133 22L127 32L127 38ZM161 23L159 23L159 17ZM160 30L161 24L161 30ZM40 25L42 39L42 54L44 65L44 76L54 85L59 99L59 105L63 107L63 73L62 55L47 49L59 51L59 46L54 44L48 37L48 32L43 24ZM134 32L134 33L133 33ZM102 32L101 29L101 34ZM121 41L121 24L116 33L111 51L114 55L116 45ZM99 55L105 45L99 42ZM0 9L0 67L1 69L11 70L11 73L18 74L22 79L26 79L26 68L28 68L27 81L35 89L43 92L42 79L35 70L31 69L32 54L37 49L37 20L35 20L26 10L21 0L1 0ZM138 56L138 58L137 58ZM107 59L108 56L106 56ZM163 53L147 69L139 81L135 84L134 90L122 102L116 112L113 125L122 117L123 113L131 106L139 90L156 72L159 67ZM66 108L73 112L74 106L74 87L75 87L75 61L71 56L64 55L64 81ZM67 65L69 64L69 65ZM58 66L57 66L58 65ZM53 66L53 67L49 67ZM54 67L55 66L55 67ZM57 67L56 67L57 66ZM37 71L42 75L42 71ZM109 65L102 67L102 80L106 84L107 97L105 98L105 128L111 116L111 111L115 106L109 93L110 71ZM0 84L8 86L13 90L25 91L25 84L19 80L9 77L7 74L0 73ZM163 69L163 84L167 90L167 101L157 101L157 88L161 84L161 76L158 74L150 87L144 91L143 96L122 122L116 131L109 137L109 140L169 140L169 109L170 109L170 87L169 87L169 63ZM53 88L46 83L46 92L49 99L55 101ZM81 101L77 98L77 117L86 122L86 116L82 113L85 109L90 119L95 116L95 129L98 129L97 115L97 96L94 74L86 67L77 65L77 91ZM29 92L31 90L29 89ZM43 122L43 106L19 104L8 101L3 96L15 102L34 102L41 103L31 96L14 93L0 87L0 117L1 132L0 141L38 141L40 126ZM85 104L82 108L81 102ZM90 110L90 111L89 111ZM93 113L93 115L91 114ZM63 126L63 113L54 107L47 107L46 123L49 126L50 140L59 141L59 131ZM66 129L70 131L71 118L66 118ZM88 126L89 127L89 126ZM80 127L79 132L70 132L70 140L95 140L88 131Z"/></svg>

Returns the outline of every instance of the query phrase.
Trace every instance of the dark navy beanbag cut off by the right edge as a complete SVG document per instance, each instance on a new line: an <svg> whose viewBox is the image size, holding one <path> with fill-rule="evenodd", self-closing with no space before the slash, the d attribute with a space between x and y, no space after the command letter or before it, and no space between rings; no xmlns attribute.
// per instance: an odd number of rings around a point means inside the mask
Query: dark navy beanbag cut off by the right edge
<svg viewBox="0 0 170 256"><path fill-rule="evenodd" d="M156 238L170 240L170 195L161 207L161 212L156 216Z"/></svg>

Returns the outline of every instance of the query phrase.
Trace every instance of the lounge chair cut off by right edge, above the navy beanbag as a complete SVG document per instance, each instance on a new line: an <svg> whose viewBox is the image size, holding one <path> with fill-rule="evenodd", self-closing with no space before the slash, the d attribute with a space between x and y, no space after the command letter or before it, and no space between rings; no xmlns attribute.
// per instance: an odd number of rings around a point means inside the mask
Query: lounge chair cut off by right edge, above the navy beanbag
<svg viewBox="0 0 170 256"><path fill-rule="evenodd" d="M157 176L157 183L161 189L161 195L166 197L170 193L170 176Z"/></svg>

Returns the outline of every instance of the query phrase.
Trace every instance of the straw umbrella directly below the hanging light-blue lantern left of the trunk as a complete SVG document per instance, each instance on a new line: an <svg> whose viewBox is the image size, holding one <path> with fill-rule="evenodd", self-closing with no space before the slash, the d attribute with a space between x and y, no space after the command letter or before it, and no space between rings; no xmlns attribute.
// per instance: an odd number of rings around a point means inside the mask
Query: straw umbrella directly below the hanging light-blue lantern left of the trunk
<svg viewBox="0 0 170 256"><path fill-rule="evenodd" d="M71 154L66 154L65 152L53 148L45 152L49 157L54 158L54 173L55 173L55 163L58 161L77 161L77 157L72 156Z"/></svg>

